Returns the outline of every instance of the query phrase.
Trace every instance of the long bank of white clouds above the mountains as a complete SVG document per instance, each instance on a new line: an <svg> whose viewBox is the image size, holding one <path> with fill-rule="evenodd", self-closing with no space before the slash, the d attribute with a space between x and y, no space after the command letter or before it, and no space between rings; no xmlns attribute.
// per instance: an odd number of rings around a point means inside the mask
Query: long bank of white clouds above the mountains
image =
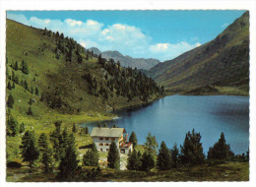
<svg viewBox="0 0 256 187"><path fill-rule="evenodd" d="M83 22L73 19L60 21L36 17L27 19L24 15L10 13L7 14L7 18L34 28L63 32L65 36L73 37L86 48L97 47L101 51L118 50L132 57L157 58L163 61L201 45L196 42L197 37L191 38L195 43L185 41L154 43L150 35L146 35L134 26L123 24L104 26L95 20Z"/></svg>

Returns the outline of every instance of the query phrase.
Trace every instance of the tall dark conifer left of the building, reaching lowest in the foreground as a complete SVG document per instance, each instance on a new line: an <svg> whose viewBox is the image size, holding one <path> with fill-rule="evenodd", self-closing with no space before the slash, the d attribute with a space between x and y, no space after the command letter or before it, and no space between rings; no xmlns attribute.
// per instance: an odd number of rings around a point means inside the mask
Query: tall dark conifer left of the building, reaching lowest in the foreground
<svg viewBox="0 0 256 187"><path fill-rule="evenodd" d="M76 149L76 142L73 133L69 137L69 145L65 150L65 156L61 158L59 164L58 177L65 180L72 180L75 178L75 172L78 168L78 156Z"/></svg>

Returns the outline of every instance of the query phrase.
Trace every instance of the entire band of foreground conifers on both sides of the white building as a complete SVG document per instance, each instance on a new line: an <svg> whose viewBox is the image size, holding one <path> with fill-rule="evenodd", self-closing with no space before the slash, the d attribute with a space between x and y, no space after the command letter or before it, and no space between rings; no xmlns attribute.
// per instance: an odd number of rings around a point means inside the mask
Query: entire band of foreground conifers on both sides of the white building
<svg viewBox="0 0 256 187"><path fill-rule="evenodd" d="M75 140L76 133L78 133L78 129L75 124L73 124L72 132L68 133L67 127L63 128L61 121L55 122L55 130L49 135L41 133L38 139L36 139L34 131L27 130L22 137L20 146L23 160L28 161L30 167L33 167L34 161L39 162L45 173L53 172L53 168L57 167L57 180L94 179L101 172L96 145L93 143L80 160ZM201 135L194 129L186 134L180 149L177 144L174 144L172 149L168 149L166 144L161 142L158 150L157 139L151 133L146 137L142 152L138 148L134 132L132 132L129 142L132 142L134 149L128 154L126 166L128 170L146 172L152 169L169 170L209 161L234 160L235 158L229 145L225 143L224 133L221 134L219 141L209 149L207 157L203 153ZM239 161L248 160L249 152L239 159ZM94 169L85 171L81 165L93 166ZM120 154L114 142L111 142L107 153L107 167L120 169Z"/></svg>

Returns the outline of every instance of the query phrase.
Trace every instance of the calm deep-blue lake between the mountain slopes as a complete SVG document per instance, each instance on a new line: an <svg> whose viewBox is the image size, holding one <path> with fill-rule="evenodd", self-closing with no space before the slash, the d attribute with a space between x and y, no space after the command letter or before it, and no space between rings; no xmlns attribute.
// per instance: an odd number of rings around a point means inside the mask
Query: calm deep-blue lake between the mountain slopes
<svg viewBox="0 0 256 187"><path fill-rule="evenodd" d="M202 136L204 153L218 142L224 132L226 143L235 154L246 153L249 148L249 97L233 95L191 96L171 95L137 109L117 112L118 118L107 122L134 131L139 144L146 142L149 132L159 145L168 148L183 144L185 135L194 128ZM90 132L97 122L87 122Z"/></svg>

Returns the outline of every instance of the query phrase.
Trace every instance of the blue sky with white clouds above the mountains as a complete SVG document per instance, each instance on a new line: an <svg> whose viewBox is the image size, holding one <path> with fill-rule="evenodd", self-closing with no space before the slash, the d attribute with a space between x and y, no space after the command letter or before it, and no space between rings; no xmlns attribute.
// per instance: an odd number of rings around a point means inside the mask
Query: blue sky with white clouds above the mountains
<svg viewBox="0 0 256 187"><path fill-rule="evenodd" d="M8 11L7 18L63 32L86 48L170 60L215 37L245 11Z"/></svg>

